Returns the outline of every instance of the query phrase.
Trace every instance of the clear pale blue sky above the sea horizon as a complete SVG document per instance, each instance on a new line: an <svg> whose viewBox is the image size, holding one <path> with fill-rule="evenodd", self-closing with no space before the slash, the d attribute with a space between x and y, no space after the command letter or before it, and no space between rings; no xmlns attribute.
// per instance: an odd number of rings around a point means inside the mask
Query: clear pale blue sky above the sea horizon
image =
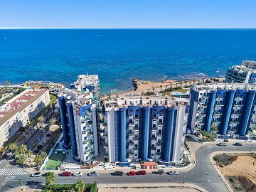
<svg viewBox="0 0 256 192"><path fill-rule="evenodd" d="M256 28L256 0L0 0L0 28Z"/></svg>

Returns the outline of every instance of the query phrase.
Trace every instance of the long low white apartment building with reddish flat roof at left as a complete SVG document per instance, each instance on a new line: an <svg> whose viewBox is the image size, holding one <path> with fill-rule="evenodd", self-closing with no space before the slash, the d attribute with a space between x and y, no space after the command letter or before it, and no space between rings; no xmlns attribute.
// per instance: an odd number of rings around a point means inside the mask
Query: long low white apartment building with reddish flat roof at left
<svg viewBox="0 0 256 192"><path fill-rule="evenodd" d="M28 89L0 105L0 147L50 102L48 90Z"/></svg>

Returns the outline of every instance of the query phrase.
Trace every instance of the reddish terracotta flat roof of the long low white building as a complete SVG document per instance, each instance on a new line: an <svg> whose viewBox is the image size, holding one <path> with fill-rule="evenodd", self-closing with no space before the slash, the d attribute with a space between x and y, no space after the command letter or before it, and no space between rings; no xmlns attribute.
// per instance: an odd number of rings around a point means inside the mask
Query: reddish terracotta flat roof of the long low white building
<svg viewBox="0 0 256 192"><path fill-rule="evenodd" d="M0 125L35 102L48 90L25 90L0 107Z"/></svg>

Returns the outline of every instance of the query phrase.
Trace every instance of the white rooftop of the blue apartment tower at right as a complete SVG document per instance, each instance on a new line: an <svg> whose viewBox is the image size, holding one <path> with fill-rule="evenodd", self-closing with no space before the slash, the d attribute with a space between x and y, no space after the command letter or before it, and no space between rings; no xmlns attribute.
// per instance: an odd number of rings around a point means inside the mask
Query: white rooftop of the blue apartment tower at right
<svg viewBox="0 0 256 192"><path fill-rule="evenodd" d="M215 83L194 85L193 90L256 90L256 85L247 83Z"/></svg>

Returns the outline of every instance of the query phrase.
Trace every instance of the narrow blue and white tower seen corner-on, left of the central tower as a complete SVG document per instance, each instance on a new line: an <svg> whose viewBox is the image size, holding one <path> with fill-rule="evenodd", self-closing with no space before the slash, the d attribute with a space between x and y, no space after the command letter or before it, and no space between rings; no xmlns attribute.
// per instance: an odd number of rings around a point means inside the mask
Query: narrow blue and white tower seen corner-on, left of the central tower
<svg viewBox="0 0 256 192"><path fill-rule="evenodd" d="M73 159L92 164L99 154L97 75L79 75L71 90L58 97L63 128L63 147L72 148Z"/></svg>

